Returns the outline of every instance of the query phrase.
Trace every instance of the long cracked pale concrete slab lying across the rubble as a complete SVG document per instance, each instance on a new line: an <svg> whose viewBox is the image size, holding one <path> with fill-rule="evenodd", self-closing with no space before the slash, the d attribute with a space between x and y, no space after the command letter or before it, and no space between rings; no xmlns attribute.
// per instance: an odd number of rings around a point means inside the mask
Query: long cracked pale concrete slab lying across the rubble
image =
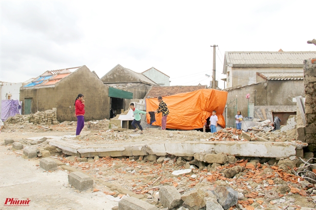
<svg viewBox="0 0 316 210"><path fill-rule="evenodd" d="M167 154L191 156L195 153L224 153L243 157L287 158L296 155L296 149L306 147L297 142L256 142L256 141L142 141L113 144L88 144L75 139L51 138L50 145L64 154L81 157L122 157Z"/></svg>

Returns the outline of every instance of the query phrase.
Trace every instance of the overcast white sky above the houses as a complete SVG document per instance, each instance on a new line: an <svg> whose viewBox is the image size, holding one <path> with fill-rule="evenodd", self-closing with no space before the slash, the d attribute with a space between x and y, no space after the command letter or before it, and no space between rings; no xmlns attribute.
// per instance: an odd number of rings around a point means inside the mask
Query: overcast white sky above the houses
<svg viewBox="0 0 316 210"><path fill-rule="evenodd" d="M170 85L209 85L227 51L316 51L316 0L1 1L0 81L86 65L155 67ZM206 77L205 74L211 75Z"/></svg>

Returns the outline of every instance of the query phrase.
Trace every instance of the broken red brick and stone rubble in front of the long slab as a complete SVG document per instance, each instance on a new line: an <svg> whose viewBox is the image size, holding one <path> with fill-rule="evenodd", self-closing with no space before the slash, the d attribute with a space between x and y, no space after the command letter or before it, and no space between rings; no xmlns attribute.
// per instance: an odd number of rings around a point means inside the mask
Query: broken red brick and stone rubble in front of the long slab
<svg viewBox="0 0 316 210"><path fill-rule="evenodd" d="M274 210L288 206L298 210L315 207L316 185L297 175L304 163L296 157L272 158L269 164L266 158L240 159L213 154L210 158L213 163L208 164L197 159L202 155L58 159L97 178L100 185L95 188L106 195L119 198L138 195L158 208ZM105 184L110 190L104 188Z"/></svg>

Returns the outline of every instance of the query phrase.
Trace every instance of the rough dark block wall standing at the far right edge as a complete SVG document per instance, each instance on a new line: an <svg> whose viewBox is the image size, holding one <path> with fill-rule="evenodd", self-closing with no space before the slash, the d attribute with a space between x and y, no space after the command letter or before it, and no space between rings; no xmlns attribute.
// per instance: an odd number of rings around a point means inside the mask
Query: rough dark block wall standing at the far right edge
<svg viewBox="0 0 316 210"><path fill-rule="evenodd" d="M316 152L316 58L304 60L305 142Z"/></svg>

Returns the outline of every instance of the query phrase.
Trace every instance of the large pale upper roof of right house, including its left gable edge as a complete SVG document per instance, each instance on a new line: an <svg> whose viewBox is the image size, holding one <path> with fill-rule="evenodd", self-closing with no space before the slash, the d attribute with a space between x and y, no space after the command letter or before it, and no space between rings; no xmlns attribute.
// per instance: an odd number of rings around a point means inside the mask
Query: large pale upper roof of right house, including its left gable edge
<svg viewBox="0 0 316 210"><path fill-rule="evenodd" d="M223 73L227 67L287 67L303 68L303 60L316 57L309 52L225 52Z"/></svg>

